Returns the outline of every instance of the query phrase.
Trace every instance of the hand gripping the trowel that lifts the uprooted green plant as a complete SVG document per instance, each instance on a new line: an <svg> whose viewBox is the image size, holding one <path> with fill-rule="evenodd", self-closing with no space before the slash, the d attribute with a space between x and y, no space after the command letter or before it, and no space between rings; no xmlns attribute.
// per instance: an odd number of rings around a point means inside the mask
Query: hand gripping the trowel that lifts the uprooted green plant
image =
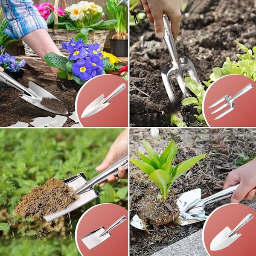
<svg viewBox="0 0 256 256"><path fill-rule="evenodd" d="M224 189L239 184L230 200L239 203L241 200L253 200L256 197L256 157L250 162L231 171L227 175Z"/></svg>

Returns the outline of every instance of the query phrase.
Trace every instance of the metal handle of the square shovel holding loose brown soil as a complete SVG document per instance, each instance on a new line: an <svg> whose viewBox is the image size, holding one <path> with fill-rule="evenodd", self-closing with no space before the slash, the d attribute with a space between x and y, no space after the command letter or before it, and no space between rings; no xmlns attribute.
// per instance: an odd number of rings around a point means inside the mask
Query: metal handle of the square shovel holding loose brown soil
<svg viewBox="0 0 256 256"><path fill-rule="evenodd" d="M101 172L99 175L85 183L79 189L76 190L75 195L86 192L88 189L93 188L95 185L101 183L108 179L108 176L117 175L118 167L123 166L126 170L128 169L128 156L122 158L112 166L108 167L105 171Z"/></svg>

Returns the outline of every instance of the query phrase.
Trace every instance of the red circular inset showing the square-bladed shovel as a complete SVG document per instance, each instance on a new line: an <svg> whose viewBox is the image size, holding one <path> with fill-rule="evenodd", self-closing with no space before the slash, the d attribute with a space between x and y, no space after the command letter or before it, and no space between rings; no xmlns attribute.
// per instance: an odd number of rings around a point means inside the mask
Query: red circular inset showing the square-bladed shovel
<svg viewBox="0 0 256 256"><path fill-rule="evenodd" d="M76 246L82 256L127 255L128 211L117 204L88 209L76 225Z"/></svg>

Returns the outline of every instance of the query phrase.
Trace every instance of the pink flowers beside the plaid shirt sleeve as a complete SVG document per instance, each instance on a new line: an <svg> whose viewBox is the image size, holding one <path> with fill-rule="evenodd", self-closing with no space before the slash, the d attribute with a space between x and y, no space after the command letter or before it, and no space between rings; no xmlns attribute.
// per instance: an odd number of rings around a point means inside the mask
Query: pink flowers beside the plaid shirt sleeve
<svg viewBox="0 0 256 256"><path fill-rule="evenodd" d="M53 23L54 20L54 6L48 3L34 4L34 6L38 9L40 15L47 21L47 25ZM64 10L61 7L58 7L58 16L65 16Z"/></svg>

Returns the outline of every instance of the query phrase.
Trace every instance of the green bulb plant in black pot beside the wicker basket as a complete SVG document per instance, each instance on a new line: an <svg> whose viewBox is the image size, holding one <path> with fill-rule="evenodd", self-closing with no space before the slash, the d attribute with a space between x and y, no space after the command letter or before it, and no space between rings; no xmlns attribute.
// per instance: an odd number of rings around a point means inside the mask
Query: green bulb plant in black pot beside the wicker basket
<svg viewBox="0 0 256 256"><path fill-rule="evenodd" d="M128 56L128 25L127 25L127 6L118 5L119 0L106 0L103 7L105 13L110 19L117 20L114 25L115 35L110 40L111 53L118 57Z"/></svg>

